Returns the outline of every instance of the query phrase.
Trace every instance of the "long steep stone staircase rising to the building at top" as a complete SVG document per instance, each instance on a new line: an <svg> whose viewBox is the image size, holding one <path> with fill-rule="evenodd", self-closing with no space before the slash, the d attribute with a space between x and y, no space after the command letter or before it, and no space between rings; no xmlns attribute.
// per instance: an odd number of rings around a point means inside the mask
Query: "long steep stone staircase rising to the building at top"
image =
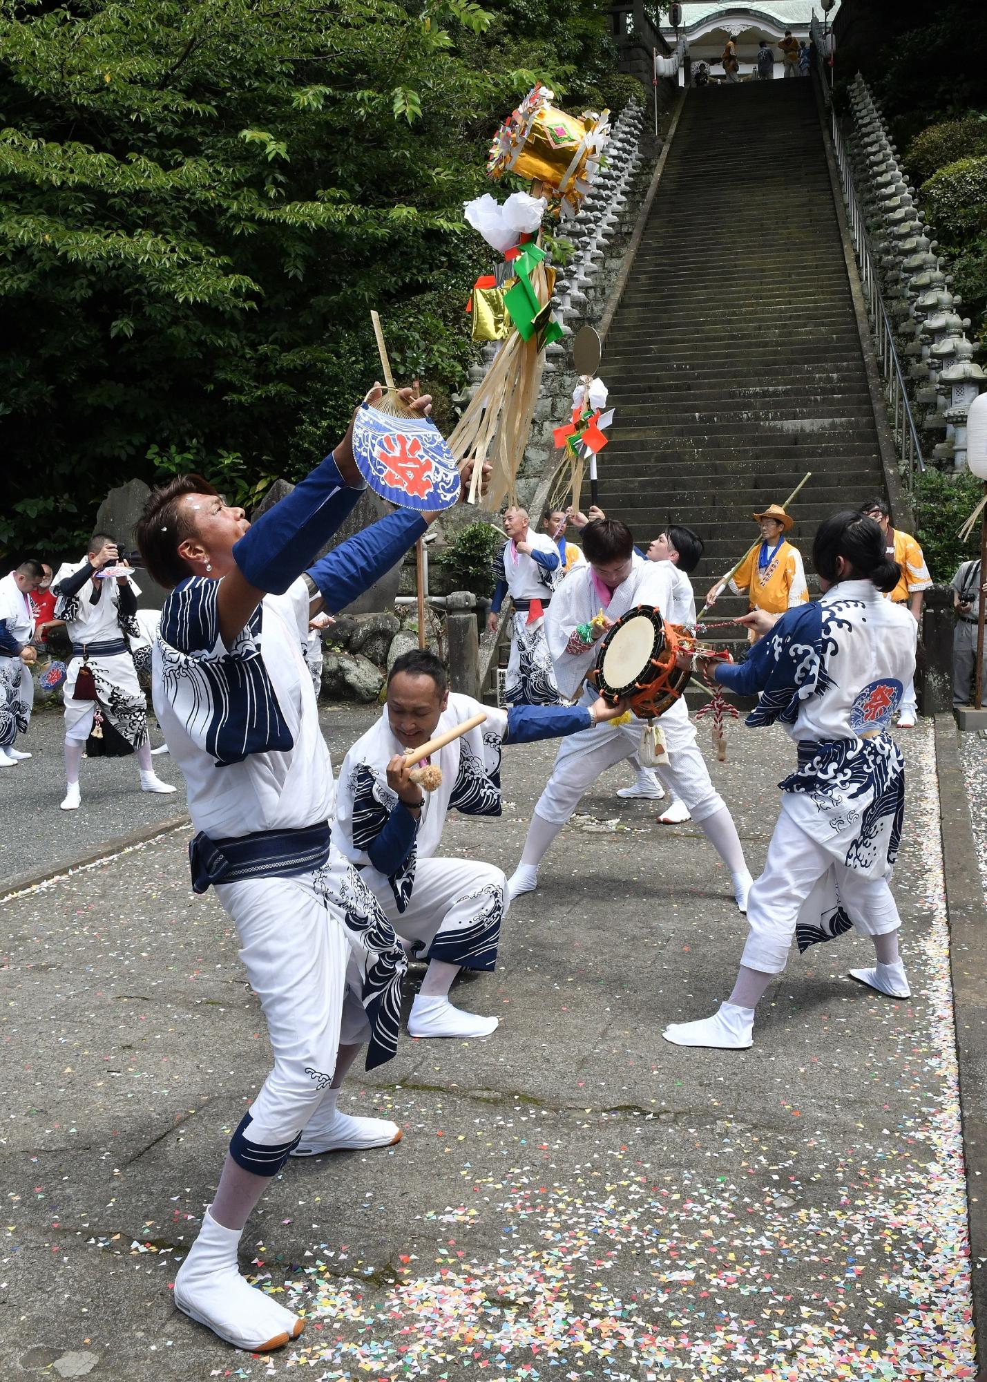
<svg viewBox="0 0 987 1382"><path fill-rule="evenodd" d="M701 533L697 608L807 470L789 533L807 571L818 521L883 492L809 79L688 93L601 375L600 503L643 545L669 517ZM711 618L745 608L723 596Z"/></svg>

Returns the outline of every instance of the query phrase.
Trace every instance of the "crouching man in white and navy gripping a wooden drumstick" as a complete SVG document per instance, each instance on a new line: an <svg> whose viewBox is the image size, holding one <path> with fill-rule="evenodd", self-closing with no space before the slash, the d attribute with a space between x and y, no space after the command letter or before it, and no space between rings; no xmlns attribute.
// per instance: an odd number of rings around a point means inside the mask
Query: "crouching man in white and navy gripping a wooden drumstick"
<svg viewBox="0 0 987 1382"><path fill-rule="evenodd" d="M592 731L621 706L481 706L451 692L429 651L400 656L377 723L343 760L332 826L333 868L359 869L398 937L429 960L412 1005L412 1036L489 1036L496 1017L453 1007L460 969L492 970L507 911L503 872L476 860L437 858L451 810L500 814L500 750ZM424 768L416 767L426 757ZM299 1153L304 1151L304 1137Z"/></svg>

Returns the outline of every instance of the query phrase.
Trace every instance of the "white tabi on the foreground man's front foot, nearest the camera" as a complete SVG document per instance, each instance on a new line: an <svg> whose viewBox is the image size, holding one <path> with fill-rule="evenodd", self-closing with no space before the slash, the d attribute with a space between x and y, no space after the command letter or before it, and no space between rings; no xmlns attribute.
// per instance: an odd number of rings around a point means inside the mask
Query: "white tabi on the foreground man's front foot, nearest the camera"
<svg viewBox="0 0 987 1382"><path fill-rule="evenodd" d="M267 1353L297 1339L304 1320L243 1280L236 1267L239 1241L241 1230L224 1229L206 1209L174 1278L174 1303L235 1349Z"/></svg>

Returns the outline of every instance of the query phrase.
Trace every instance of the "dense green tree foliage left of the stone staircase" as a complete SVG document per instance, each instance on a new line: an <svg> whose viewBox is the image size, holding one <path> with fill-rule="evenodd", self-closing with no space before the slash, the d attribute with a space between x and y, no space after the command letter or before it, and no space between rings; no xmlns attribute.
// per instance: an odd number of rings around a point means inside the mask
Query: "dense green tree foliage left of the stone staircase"
<svg viewBox="0 0 987 1382"><path fill-rule="evenodd" d="M448 399L488 263L462 203L534 80L626 100L605 11L0 0L0 542L75 542L176 457L297 478L380 373L372 307Z"/></svg>

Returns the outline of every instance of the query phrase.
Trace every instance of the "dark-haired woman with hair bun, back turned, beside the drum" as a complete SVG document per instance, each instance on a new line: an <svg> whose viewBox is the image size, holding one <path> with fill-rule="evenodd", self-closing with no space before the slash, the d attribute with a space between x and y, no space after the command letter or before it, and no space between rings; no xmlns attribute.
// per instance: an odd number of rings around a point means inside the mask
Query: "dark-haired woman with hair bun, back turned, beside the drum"
<svg viewBox="0 0 987 1382"><path fill-rule="evenodd" d="M876 963L852 977L890 998L911 992L887 886L904 815L904 759L889 730L915 670L918 626L882 598L900 572L872 518L827 518L813 561L822 598L778 616L753 611L744 622L767 637L746 662L713 668L738 695L759 694L746 723L780 720L799 759L780 784L781 814L748 897L737 983L712 1017L666 1027L677 1046L751 1046L755 1006L793 936L805 951L856 926L872 938Z"/></svg>

